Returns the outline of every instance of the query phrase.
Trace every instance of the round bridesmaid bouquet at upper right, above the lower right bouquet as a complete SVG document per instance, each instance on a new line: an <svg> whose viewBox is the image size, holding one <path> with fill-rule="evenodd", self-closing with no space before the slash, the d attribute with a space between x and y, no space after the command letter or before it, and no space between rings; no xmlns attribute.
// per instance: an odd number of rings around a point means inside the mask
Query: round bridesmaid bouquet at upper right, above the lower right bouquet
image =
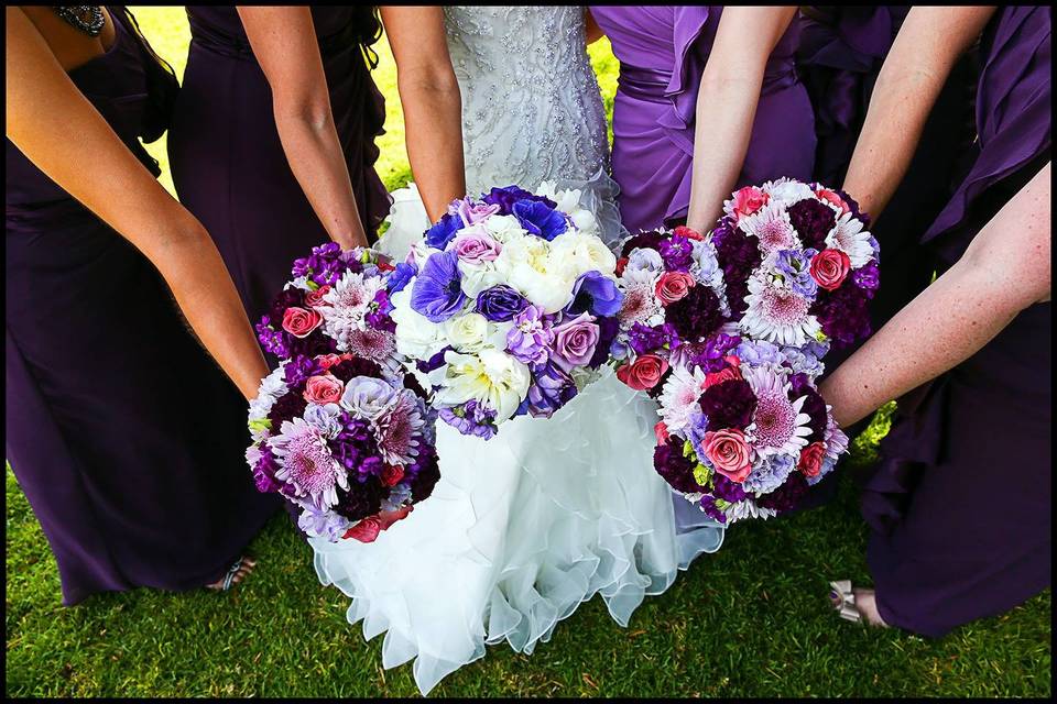
<svg viewBox="0 0 1057 704"><path fill-rule="evenodd" d="M847 194L780 178L738 190L723 211L711 242L745 336L841 348L870 334L879 246Z"/></svg>

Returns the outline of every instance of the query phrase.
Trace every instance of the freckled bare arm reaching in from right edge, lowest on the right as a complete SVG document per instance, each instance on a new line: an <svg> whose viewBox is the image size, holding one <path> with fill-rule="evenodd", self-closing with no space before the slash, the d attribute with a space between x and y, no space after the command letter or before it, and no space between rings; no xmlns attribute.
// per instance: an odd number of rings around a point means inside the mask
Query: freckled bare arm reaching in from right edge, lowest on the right
<svg viewBox="0 0 1057 704"><path fill-rule="evenodd" d="M848 426L973 355L1018 312L1049 300L1050 165L973 239L962 257L821 385Z"/></svg>

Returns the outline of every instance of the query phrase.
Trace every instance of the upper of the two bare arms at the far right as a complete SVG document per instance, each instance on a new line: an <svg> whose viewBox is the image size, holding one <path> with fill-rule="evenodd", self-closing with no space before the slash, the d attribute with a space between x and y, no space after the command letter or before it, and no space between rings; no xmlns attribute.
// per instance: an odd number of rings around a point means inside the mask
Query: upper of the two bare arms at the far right
<svg viewBox="0 0 1057 704"><path fill-rule="evenodd" d="M993 7L915 7L878 75L843 188L876 221L911 165L925 121Z"/></svg>

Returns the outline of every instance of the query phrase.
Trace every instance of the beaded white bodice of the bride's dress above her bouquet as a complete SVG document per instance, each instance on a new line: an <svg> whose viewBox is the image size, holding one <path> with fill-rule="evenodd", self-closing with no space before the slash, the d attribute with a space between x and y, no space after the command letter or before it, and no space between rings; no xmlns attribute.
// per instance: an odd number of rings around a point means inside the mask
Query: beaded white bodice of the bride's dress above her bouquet
<svg viewBox="0 0 1057 704"><path fill-rule="evenodd" d="M582 7L446 7L470 193L608 169Z"/></svg>

